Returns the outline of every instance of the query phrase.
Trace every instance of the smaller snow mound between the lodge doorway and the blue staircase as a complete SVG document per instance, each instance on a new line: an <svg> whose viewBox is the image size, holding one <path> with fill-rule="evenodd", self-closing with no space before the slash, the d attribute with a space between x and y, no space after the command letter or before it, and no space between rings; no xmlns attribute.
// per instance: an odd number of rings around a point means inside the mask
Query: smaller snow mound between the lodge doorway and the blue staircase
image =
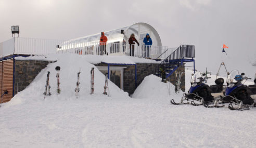
<svg viewBox="0 0 256 148"><path fill-rule="evenodd" d="M155 75L146 76L143 82L134 91L133 98L150 98L155 100L170 100L170 96L176 97L175 86L170 82L163 83L161 78ZM181 91L182 93L182 91Z"/></svg>

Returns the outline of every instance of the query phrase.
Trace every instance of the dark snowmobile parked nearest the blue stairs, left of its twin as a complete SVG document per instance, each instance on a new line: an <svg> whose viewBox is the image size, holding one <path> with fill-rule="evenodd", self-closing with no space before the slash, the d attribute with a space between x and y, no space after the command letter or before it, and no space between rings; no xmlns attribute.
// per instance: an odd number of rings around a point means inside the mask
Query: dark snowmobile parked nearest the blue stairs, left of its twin
<svg viewBox="0 0 256 148"><path fill-rule="evenodd" d="M197 105L203 105L203 104L208 104L208 103L213 103L214 102L214 97L211 95L211 93L220 93L223 90L223 84L224 84L224 79L223 78L218 78L215 80L216 85L208 86L207 84L203 83L206 82L209 77L205 76L206 74L201 75L200 72L196 72L195 74L191 75L191 87L188 91L188 93L184 93L183 97L181 99L180 103L175 103L174 100L171 100L171 103L174 105L180 105L180 104L191 104L194 106ZM203 77L205 76L205 77ZM218 96L219 98L219 96ZM190 101L191 102L184 102L184 101ZM200 103L197 104L195 101L199 101ZM218 107L223 107L219 106Z"/></svg>

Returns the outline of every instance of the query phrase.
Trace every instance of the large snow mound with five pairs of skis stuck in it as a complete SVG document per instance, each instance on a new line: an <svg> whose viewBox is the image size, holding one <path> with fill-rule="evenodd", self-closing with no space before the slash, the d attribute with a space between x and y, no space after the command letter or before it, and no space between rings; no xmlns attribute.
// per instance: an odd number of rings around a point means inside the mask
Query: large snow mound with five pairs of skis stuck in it
<svg viewBox="0 0 256 148"><path fill-rule="evenodd" d="M108 81L111 97L103 95L105 85L105 75L102 74L95 65L86 61L86 56L75 54L63 54L63 55L49 55L48 57L55 57L58 59L55 63L50 63L45 69L43 69L33 80L33 82L19 92L11 101L1 105L10 106L20 103L29 103L32 101L52 101L52 100L74 100L76 88L76 82L78 80L78 72L80 74L80 92L79 99L114 99L114 98L129 98L127 92L120 90L110 80ZM25 60L25 58L24 58ZM57 78L56 78L56 66L60 66L60 89L61 93L57 94ZM91 85L91 69L94 70L94 95L90 95ZM51 96L46 96L44 99L43 92L45 91L46 75L47 71L50 72L49 84Z"/></svg>

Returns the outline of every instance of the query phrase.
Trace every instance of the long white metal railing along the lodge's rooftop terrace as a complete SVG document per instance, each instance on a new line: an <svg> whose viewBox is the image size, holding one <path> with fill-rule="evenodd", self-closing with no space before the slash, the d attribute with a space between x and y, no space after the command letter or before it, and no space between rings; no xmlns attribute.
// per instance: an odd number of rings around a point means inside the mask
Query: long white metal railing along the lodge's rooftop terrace
<svg viewBox="0 0 256 148"><path fill-rule="evenodd" d="M106 52L105 52L106 49ZM77 53L80 55L126 55L165 59L175 48L167 46L130 45L122 43L95 43L14 37L0 43L0 56L47 55L49 53Z"/></svg>

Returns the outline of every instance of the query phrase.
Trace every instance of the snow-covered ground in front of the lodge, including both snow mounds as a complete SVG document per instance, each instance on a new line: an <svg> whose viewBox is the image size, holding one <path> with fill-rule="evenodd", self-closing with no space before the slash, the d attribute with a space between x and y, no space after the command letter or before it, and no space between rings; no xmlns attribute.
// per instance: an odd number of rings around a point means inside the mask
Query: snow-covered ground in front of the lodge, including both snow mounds
<svg viewBox="0 0 256 148"><path fill-rule="evenodd" d="M0 107L1 147L254 147L256 110L172 105L174 86L150 75L130 98L109 82L111 97L102 94L105 76L95 69L95 94L89 95L94 66L79 55L59 55L29 87ZM60 66L61 94L56 94ZM80 97L75 98L81 68ZM52 96L43 99L50 71ZM186 71L189 75L189 72ZM190 76L186 82L189 84ZM209 80L210 84L210 80ZM170 91L169 91L170 88Z"/></svg>

